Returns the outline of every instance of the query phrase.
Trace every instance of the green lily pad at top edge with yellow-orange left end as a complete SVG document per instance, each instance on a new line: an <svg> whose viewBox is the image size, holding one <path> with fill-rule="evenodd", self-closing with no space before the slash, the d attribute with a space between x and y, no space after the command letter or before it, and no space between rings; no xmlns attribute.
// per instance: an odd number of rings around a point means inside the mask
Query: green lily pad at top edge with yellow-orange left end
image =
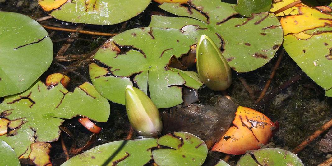
<svg viewBox="0 0 332 166"><path fill-rule="evenodd" d="M39 0L52 17L73 23L113 25L127 21L141 12L151 0Z"/></svg>

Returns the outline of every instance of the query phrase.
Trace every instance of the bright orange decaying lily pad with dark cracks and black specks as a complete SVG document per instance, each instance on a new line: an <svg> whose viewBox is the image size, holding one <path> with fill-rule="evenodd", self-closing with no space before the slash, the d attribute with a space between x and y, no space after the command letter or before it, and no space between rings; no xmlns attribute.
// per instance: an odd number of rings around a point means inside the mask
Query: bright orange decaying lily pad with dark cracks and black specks
<svg viewBox="0 0 332 166"><path fill-rule="evenodd" d="M233 125L212 147L212 151L233 155L245 154L247 150L256 150L268 143L273 130L277 128L278 126L264 114L239 106Z"/></svg>

